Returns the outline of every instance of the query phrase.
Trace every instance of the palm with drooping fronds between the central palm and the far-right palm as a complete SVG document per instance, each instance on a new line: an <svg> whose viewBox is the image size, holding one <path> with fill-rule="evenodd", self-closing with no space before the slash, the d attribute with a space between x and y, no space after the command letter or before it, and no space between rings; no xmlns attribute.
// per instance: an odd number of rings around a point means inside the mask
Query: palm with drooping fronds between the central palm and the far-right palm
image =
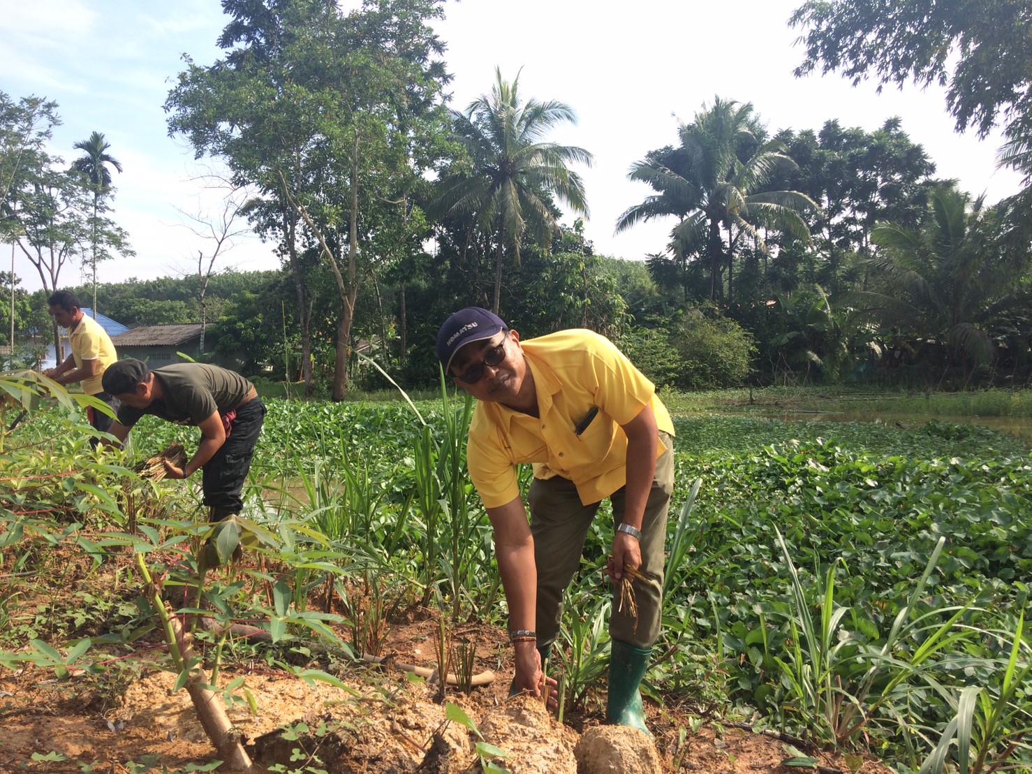
<svg viewBox="0 0 1032 774"><path fill-rule="evenodd" d="M656 194L627 208L616 222L620 232L641 221L675 216L675 253L705 254L710 268L710 299L715 300L723 262L721 226L728 231L729 266L734 259L733 231L766 248L761 227L809 238L801 213L816 208L798 191L767 191L774 172L795 162L777 140L760 143L752 104L717 97L703 105L690 124L680 124L680 143L648 153L627 178L651 186ZM757 147L759 146L759 147ZM746 153L748 148L754 148ZM730 275L729 275L730 277ZM730 294L730 291L729 291Z"/></svg>

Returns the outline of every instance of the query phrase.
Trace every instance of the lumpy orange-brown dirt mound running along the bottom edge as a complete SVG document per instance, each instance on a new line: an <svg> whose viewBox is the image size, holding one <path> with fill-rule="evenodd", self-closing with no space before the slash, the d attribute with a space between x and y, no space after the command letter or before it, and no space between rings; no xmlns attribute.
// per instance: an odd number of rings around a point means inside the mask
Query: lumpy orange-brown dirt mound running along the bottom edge
<svg viewBox="0 0 1032 774"><path fill-rule="evenodd" d="M256 772L277 763L330 774L478 770L480 737L449 721L446 706L434 701L437 686L422 680L357 668L342 678L343 687L257 671L224 673L220 684L240 677L228 714L255 759ZM101 715L76 698L76 678L58 681L43 670L0 669L0 772L79 774L82 764L104 774L142 770L128 767L129 762L180 772L191 763L212 762L215 751L189 696L172 692L174 682L167 672L147 674L129 686L119 707ZM781 740L729 724L705 725L678 744L677 724L660 723L658 716L652 718L654 740L633 729L600 725L591 717L582 719L582 735L556 722L536 700L506 700L505 686L493 687L472 696L449 691L447 702L462 709L484 741L506 753L499 765L520 774L763 774L783 771L780 763L789 756ZM811 754L826 772L891 774L871 760L850 761L850 767L840 756Z"/></svg>

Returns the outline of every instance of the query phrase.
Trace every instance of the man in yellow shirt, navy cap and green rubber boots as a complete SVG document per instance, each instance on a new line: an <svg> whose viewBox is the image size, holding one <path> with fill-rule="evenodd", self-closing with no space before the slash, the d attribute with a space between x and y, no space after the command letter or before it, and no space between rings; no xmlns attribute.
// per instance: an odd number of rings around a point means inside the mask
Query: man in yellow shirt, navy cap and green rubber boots
<svg viewBox="0 0 1032 774"><path fill-rule="evenodd" d="M673 489L674 426L655 388L607 338L562 330L520 342L496 315L471 307L438 331L438 357L479 401L470 477L494 531L515 649L514 689L540 696L542 664L559 631L562 593L580 563L600 502L613 505L606 573L634 579L634 618L614 602L608 716L645 727L639 683L659 636L664 542ZM534 465L530 523L515 465Z"/></svg>

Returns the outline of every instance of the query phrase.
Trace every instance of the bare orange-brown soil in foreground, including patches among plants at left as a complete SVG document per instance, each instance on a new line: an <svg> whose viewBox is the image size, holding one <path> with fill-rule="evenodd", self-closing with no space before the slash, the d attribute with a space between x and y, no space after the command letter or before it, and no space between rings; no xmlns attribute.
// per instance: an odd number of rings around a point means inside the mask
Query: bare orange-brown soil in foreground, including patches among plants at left
<svg viewBox="0 0 1032 774"><path fill-rule="evenodd" d="M62 583L37 579L37 587L47 587L52 605L55 594L68 598L59 606L63 610L73 609L74 594L83 588L119 585L118 571L114 579L103 575L104 570L95 575L85 557L82 566L73 556L50 558L63 567ZM128 601L131 584L125 584L125 590ZM28 595L20 602L23 610L35 609ZM474 749L478 737L445 718L445 704L453 703L486 741L509 753L499 763L518 774L798 771L781 765L794 754L792 745L815 757L816 767L810 771L820 774L891 771L871 757L846 760L730 721L706 722L681 739L681 730L690 728L689 718L703 714L690 706L660 709L646 702L652 740L634 730L605 727L604 695L592 697L584 711L558 723L540 703L508 698L512 663L505 632L476 622L451 634L475 644L474 671L492 672L494 680L470 695L449 686L442 697L438 685L413 679L394 666L405 663L432 669L438 626L432 611L415 606L405 609L385 627L381 652L388 655L386 666L323 665L346 688L307 682L264 662L237 660L225 668L220 686L244 680L233 691L236 701L229 716L255 761L253 770L265 772L280 765L283 768L275 770L322 769L328 774L481 771ZM96 637L103 634L101 630L103 623L93 621L74 634ZM62 646L61 642L52 644ZM147 647L155 649L150 656ZM150 644L137 644L137 648L130 658L114 656L101 676L73 670L58 679L52 670L0 667L0 773L185 772L204 770L215 762L215 749L187 691L173 691L175 676L157 666L154 655L160 652L160 643L152 637ZM118 669L126 664L132 669ZM302 721L307 734L297 725ZM287 735L285 727L292 729ZM585 752L588 743L596 744ZM305 770L307 766L313 768Z"/></svg>

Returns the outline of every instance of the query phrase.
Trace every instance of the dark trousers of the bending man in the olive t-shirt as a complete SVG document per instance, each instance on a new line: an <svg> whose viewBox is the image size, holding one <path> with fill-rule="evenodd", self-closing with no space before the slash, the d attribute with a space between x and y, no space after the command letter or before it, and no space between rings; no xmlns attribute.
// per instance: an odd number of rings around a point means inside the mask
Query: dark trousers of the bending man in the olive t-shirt
<svg viewBox="0 0 1032 774"><path fill-rule="evenodd" d="M224 512L220 518L229 513L239 513L244 507L240 492L251 470L251 456L264 419L265 405L260 397L253 397L244 404L229 423L226 443L201 469L204 505Z"/></svg>

